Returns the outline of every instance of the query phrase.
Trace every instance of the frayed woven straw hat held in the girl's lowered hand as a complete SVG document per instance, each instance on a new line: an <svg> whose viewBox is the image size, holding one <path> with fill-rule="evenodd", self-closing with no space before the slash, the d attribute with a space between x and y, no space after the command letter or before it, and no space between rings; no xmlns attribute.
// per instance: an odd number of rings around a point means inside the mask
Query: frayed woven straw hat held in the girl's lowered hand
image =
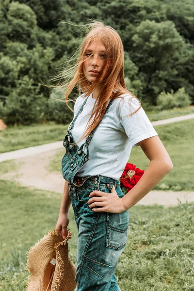
<svg viewBox="0 0 194 291"><path fill-rule="evenodd" d="M73 291L76 267L68 256L68 239L53 228L27 252L26 270L30 272L26 291ZM67 242L67 243L66 243Z"/></svg>

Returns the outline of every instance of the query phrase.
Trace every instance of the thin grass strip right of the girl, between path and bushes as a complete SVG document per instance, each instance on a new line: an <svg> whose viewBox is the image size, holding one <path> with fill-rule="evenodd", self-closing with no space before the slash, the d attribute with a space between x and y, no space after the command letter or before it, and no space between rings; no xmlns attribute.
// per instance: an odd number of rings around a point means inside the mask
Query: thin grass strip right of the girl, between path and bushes
<svg viewBox="0 0 194 291"><path fill-rule="evenodd" d="M146 110L145 110L146 111ZM172 118L181 115L187 115L194 113L194 106L188 106L183 108L174 108L171 110L163 110L160 113L153 111L146 111L147 116L149 117L150 121L157 121L167 118Z"/></svg>

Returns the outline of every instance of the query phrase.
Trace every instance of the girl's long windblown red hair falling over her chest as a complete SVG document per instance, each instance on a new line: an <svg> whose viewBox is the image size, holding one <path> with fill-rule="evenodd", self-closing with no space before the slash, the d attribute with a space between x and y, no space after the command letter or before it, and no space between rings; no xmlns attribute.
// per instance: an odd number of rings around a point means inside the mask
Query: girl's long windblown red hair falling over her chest
<svg viewBox="0 0 194 291"><path fill-rule="evenodd" d="M124 49L119 34L111 26L105 25L101 21L89 19L88 22L89 23L87 24L81 25L81 27L86 29L86 35L80 47L68 62L65 71L57 77L57 79L66 79L66 81L58 87L65 89L64 96L67 106L68 96L75 86L78 88L79 95L83 93L83 97L87 97L88 95L92 94L97 86L100 88L86 129L84 130L80 140L75 143L76 145L82 139L88 136L99 124L105 113L107 101L109 98L116 99L121 94L128 93L131 95L131 97L134 97L139 101L140 107L135 112L126 116L130 116L136 113L141 108L140 100L127 89L124 81ZM100 74L98 74L96 80L91 83L84 75L83 62L87 59L85 51L93 41L101 41L101 43L106 48L106 57ZM70 65L72 60L74 61L74 64ZM70 110L72 111L71 108ZM93 121L91 122L92 119Z"/></svg>

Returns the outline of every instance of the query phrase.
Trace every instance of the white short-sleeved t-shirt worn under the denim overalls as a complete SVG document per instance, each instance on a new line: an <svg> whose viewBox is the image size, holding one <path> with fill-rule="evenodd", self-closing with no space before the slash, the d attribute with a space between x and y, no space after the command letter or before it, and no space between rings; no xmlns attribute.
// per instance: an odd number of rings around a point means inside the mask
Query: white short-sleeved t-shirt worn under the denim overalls
<svg viewBox="0 0 194 291"><path fill-rule="evenodd" d="M79 96L74 104L74 117L78 113L81 104L86 97ZM139 101L129 94L122 94L121 97L113 100L113 103L104 115L97 130L89 143L89 159L77 172L76 176L102 175L113 179L119 179L129 160L131 148L146 138L158 135L148 119L144 109L139 108ZM71 134L77 142L86 127L90 118L96 99L92 94L88 97L82 112L78 115ZM120 103L119 103L120 102ZM69 125L70 126L70 125ZM78 143L81 146L86 137Z"/></svg>

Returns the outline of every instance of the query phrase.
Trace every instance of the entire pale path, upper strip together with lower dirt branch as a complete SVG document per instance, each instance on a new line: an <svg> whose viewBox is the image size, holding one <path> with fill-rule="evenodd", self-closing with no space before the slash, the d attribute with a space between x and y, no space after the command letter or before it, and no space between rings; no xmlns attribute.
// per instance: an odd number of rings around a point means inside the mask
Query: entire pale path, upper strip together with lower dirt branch
<svg viewBox="0 0 194 291"><path fill-rule="evenodd" d="M153 126L194 118L194 114L173 117L152 122ZM49 172L49 162L56 154L56 149L63 148L63 141L42 146L33 146L0 154L0 162L15 160L18 170L1 175L1 179L15 180L21 185L54 191L62 195L64 178L58 172ZM164 207L178 205L179 202L194 202L194 192L150 191L137 204Z"/></svg>

